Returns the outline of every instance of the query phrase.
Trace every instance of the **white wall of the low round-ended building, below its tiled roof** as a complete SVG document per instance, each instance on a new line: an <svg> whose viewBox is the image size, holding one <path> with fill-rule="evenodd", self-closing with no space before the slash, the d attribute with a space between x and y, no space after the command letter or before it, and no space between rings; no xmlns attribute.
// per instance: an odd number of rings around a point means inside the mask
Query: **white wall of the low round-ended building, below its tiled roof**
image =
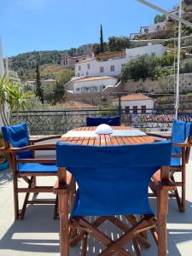
<svg viewBox="0 0 192 256"><path fill-rule="evenodd" d="M82 93L96 93L102 91L104 88L103 86L107 87L108 85L115 85L117 84L118 79L116 78L109 78L109 79L100 79L100 80L92 80L92 81L81 81L81 82L73 82L73 90L75 94L82 94ZM90 89L92 87L92 89ZM95 88L93 88L95 87ZM102 87L102 88L101 88ZM86 88L83 89L82 88Z"/></svg>

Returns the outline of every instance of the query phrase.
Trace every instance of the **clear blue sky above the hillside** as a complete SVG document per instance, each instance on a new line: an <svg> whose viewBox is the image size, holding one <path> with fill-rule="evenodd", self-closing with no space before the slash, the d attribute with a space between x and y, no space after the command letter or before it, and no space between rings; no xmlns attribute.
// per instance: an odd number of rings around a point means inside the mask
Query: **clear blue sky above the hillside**
<svg viewBox="0 0 192 256"><path fill-rule="evenodd" d="M148 0L172 9L178 0ZM0 0L3 55L71 49L103 38L129 36L153 23L157 12L137 0Z"/></svg>

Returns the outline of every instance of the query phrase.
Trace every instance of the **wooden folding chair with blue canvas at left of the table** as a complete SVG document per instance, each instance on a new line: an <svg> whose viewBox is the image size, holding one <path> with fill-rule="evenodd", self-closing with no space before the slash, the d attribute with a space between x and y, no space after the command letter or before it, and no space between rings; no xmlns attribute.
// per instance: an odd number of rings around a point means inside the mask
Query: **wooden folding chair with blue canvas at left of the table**
<svg viewBox="0 0 192 256"><path fill-rule="evenodd" d="M49 139L61 136L49 136L39 139L30 139L26 124L4 126L2 128L5 148L3 151L8 155L11 170L13 172L15 219L24 218L26 207L30 204L55 204L54 218L57 217L58 199L38 200L34 195L38 193L53 193L53 186L38 186L37 177L48 177L58 175L55 159L35 159L35 150L55 150L54 144L34 145ZM20 188L18 179L23 179L27 187ZM68 180L71 175L68 174ZM25 193L25 199L21 210L19 209L19 194ZM33 194L32 200L30 195Z"/></svg>

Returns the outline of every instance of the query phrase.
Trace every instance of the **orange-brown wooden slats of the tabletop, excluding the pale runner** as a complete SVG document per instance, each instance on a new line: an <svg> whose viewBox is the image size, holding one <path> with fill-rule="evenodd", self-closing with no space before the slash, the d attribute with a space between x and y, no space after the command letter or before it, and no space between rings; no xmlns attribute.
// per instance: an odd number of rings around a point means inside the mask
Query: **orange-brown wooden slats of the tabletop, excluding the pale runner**
<svg viewBox="0 0 192 256"><path fill-rule="evenodd" d="M125 126L113 126L113 130L131 130L134 128ZM95 131L96 127L79 127L72 131ZM154 139L149 136L137 137L111 137L110 135L100 135L96 137L61 137L62 142L76 143L82 145L109 146L109 145L126 145L140 143L154 143Z"/></svg>

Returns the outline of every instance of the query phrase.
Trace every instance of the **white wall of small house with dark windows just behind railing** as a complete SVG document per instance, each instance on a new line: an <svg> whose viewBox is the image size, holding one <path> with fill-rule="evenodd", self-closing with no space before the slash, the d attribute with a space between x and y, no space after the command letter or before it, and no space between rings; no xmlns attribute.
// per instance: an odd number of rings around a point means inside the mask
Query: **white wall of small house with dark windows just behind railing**
<svg viewBox="0 0 192 256"><path fill-rule="evenodd" d="M113 106L119 106L119 102L113 101ZM154 108L154 101L152 99L148 100L140 100L140 101L122 101L121 102L121 108L130 107L131 113L133 106L137 106L137 109L141 109L142 106L146 106L147 109ZM141 113L141 111L138 111L138 113ZM151 113L151 110L147 111L147 113Z"/></svg>

